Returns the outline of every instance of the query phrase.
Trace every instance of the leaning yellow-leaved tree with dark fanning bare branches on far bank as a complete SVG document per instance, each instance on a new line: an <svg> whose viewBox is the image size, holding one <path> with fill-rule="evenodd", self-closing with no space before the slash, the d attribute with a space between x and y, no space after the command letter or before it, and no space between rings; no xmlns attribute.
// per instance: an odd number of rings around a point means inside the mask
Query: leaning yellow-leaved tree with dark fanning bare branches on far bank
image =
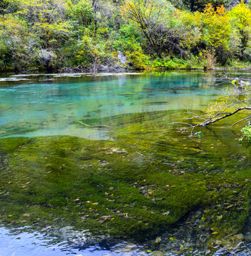
<svg viewBox="0 0 251 256"><path fill-rule="evenodd" d="M158 58L163 53L184 54L184 38L186 30L178 29L179 14L171 4L162 0L139 0L125 2L122 8L125 18L133 21L143 33L147 48L155 52Z"/></svg>

